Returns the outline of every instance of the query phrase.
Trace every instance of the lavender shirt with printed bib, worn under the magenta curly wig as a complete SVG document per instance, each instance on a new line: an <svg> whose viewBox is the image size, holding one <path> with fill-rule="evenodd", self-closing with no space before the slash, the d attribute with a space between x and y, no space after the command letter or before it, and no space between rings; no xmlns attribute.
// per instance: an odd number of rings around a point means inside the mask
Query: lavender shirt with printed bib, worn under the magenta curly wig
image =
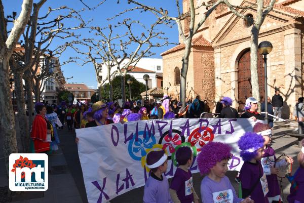
<svg viewBox="0 0 304 203"><path fill-rule="evenodd" d="M201 195L203 203L239 203L243 200L238 198L227 176L221 178L219 182L205 176L201 183Z"/></svg>

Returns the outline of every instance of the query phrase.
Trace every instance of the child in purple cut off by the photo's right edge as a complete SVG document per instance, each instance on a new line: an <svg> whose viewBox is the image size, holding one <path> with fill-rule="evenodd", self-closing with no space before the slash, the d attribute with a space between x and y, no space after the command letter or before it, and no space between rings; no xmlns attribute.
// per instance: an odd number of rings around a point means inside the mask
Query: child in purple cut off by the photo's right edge
<svg viewBox="0 0 304 203"><path fill-rule="evenodd" d="M299 168L293 175L293 184L290 187L290 194L287 196L289 203L303 203L304 202L304 139L302 142L301 151L297 155Z"/></svg>

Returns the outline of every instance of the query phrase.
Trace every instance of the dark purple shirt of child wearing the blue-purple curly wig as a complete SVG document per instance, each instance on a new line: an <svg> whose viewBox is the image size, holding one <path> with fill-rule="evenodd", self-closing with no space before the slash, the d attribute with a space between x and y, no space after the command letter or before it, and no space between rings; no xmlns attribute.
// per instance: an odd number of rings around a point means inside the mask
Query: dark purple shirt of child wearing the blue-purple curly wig
<svg viewBox="0 0 304 203"><path fill-rule="evenodd" d="M250 198L253 199L254 202L269 203L267 196L266 197L264 196L262 185L260 183L260 178L262 176L263 176L263 168L260 161L258 161L257 163L244 161L244 164L240 171L242 190L243 189L249 191L253 190L250 194L251 196Z"/></svg>

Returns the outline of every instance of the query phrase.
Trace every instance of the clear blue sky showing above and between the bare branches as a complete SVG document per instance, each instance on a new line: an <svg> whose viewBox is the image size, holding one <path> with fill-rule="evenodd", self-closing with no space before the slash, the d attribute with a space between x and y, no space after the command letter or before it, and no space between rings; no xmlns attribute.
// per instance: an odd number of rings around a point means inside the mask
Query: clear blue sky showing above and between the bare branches
<svg viewBox="0 0 304 203"><path fill-rule="evenodd" d="M34 0L34 2L38 2L37 0ZM88 6L94 7L98 4L98 0L83 0ZM108 21L107 18L114 16L117 13L120 13L124 11L126 8L134 7L134 5L128 5L126 3L126 0L120 0L120 4L117 4L117 0L107 0L103 5L99 6L95 10L86 10L82 12L82 17L86 20L93 20L90 23L90 26L99 26L104 27L108 24L116 24L119 21L122 21L125 18L131 18L132 20L140 20L141 23L143 23L146 26L149 26L151 22L155 20L155 17L151 15L149 12L139 13L139 12L132 12L124 14L123 16L116 18L114 20ZM162 7L164 10L168 10L169 14L171 16L176 16L177 10L175 6L175 0L141 0L140 2L155 6L156 8ZM19 15L21 10L22 1L21 0L3 0L5 14L11 15L13 11L16 11ZM70 8L73 8L75 10L80 10L82 8L85 8L85 6L79 1L79 0L48 0L44 6L41 9L40 16L43 16L47 11L48 8L58 8L60 6L67 6ZM55 14L55 12L54 12ZM54 16L58 16L60 13L56 13ZM54 16L51 16L52 18ZM65 25L72 25L74 21L66 21ZM178 43L178 31L177 27L173 26L172 28L168 26L161 26L159 28L161 31L165 32L165 36L169 38L169 42L171 43ZM138 30L140 34L141 31ZM81 34L82 37L94 37L92 33L89 33L88 29L82 29L77 31L78 34ZM117 33L125 33L126 30L124 29L117 29ZM68 39L71 40L71 39ZM56 47L58 45L64 44L64 40L62 39L56 39L54 40L52 47ZM151 50L151 52L156 53L156 55L153 56L153 58L161 58L160 54L170 48L172 48L174 45L168 45L161 48L154 48ZM130 49L131 51L132 49ZM61 57L59 58L60 62L63 63L64 61L68 60L69 57L77 56L77 54L72 51L71 49L68 49L65 51ZM81 56L80 56L81 57ZM85 83L88 86L94 86L94 88L97 87L96 82L96 76L95 71L93 68L93 65L91 63L85 65L85 66L79 66L75 63L69 63L66 65L63 65L62 68L63 74L65 77L71 77L72 79L68 79L68 83Z"/></svg>

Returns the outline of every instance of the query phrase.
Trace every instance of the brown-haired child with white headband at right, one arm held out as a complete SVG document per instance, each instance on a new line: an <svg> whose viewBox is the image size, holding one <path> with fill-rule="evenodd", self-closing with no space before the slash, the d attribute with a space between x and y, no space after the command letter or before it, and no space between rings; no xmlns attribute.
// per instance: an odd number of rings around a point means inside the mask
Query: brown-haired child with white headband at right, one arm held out
<svg viewBox="0 0 304 203"><path fill-rule="evenodd" d="M278 168L275 167L276 154L275 150L270 146L271 143L271 128L267 124L257 123L253 127L253 132L263 136L264 142L264 154L261 159L263 171L266 174L269 192L267 194L270 203L279 203L280 201L280 187L278 183L277 175L279 173ZM289 165L293 163L293 159L289 157L288 161L285 159L276 163L276 166Z"/></svg>

